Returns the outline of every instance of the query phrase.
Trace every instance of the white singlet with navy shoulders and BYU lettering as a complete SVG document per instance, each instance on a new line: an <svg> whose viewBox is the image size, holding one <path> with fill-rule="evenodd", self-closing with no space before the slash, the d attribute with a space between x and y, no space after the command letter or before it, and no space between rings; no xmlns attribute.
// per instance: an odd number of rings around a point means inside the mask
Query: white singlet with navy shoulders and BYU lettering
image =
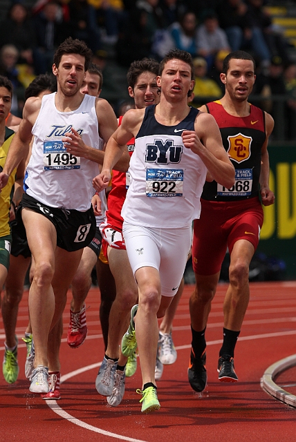
<svg viewBox="0 0 296 442"><path fill-rule="evenodd" d="M201 212L207 169L198 155L185 148L181 134L194 131L198 111L191 108L181 123L164 126L156 121L154 110L154 105L145 109L136 135L122 218L136 226L189 227Z"/></svg>

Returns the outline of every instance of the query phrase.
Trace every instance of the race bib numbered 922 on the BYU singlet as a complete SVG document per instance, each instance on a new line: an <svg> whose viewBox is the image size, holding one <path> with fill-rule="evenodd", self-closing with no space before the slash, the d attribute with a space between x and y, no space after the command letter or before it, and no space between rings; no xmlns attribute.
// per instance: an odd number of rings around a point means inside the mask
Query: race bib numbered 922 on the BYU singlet
<svg viewBox="0 0 296 442"><path fill-rule="evenodd" d="M146 195L183 196L183 177L182 169L146 169Z"/></svg>

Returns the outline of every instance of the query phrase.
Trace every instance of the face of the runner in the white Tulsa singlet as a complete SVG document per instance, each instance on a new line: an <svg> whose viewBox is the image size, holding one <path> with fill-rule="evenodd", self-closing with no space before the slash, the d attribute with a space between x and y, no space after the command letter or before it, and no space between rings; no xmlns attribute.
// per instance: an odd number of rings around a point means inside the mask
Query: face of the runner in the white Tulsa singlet
<svg viewBox="0 0 296 442"><path fill-rule="evenodd" d="M64 95L71 97L80 90L85 77L84 57L79 54L64 54L59 67L53 65L53 74Z"/></svg>

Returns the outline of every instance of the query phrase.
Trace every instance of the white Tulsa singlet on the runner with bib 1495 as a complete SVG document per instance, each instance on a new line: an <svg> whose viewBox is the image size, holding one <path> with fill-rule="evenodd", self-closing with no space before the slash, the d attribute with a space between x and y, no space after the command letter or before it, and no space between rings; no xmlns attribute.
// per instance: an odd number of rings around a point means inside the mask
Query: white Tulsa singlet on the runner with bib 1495
<svg viewBox="0 0 296 442"><path fill-rule="evenodd" d="M24 191L51 207L86 211L91 206L92 180L98 175L98 164L66 152L62 137L72 127L87 146L102 150L95 97L84 95L75 111L59 112L55 93L44 95L32 129L34 143Z"/></svg>

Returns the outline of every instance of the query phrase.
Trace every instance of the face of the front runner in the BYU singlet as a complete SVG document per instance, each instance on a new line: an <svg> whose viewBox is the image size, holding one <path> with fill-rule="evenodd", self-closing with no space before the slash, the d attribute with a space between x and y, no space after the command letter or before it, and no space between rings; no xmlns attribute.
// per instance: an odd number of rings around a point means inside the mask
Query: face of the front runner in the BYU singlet
<svg viewBox="0 0 296 442"><path fill-rule="evenodd" d="M157 84L166 97L174 102L181 101L194 88L189 64L179 59L167 61L161 77L157 77Z"/></svg>

